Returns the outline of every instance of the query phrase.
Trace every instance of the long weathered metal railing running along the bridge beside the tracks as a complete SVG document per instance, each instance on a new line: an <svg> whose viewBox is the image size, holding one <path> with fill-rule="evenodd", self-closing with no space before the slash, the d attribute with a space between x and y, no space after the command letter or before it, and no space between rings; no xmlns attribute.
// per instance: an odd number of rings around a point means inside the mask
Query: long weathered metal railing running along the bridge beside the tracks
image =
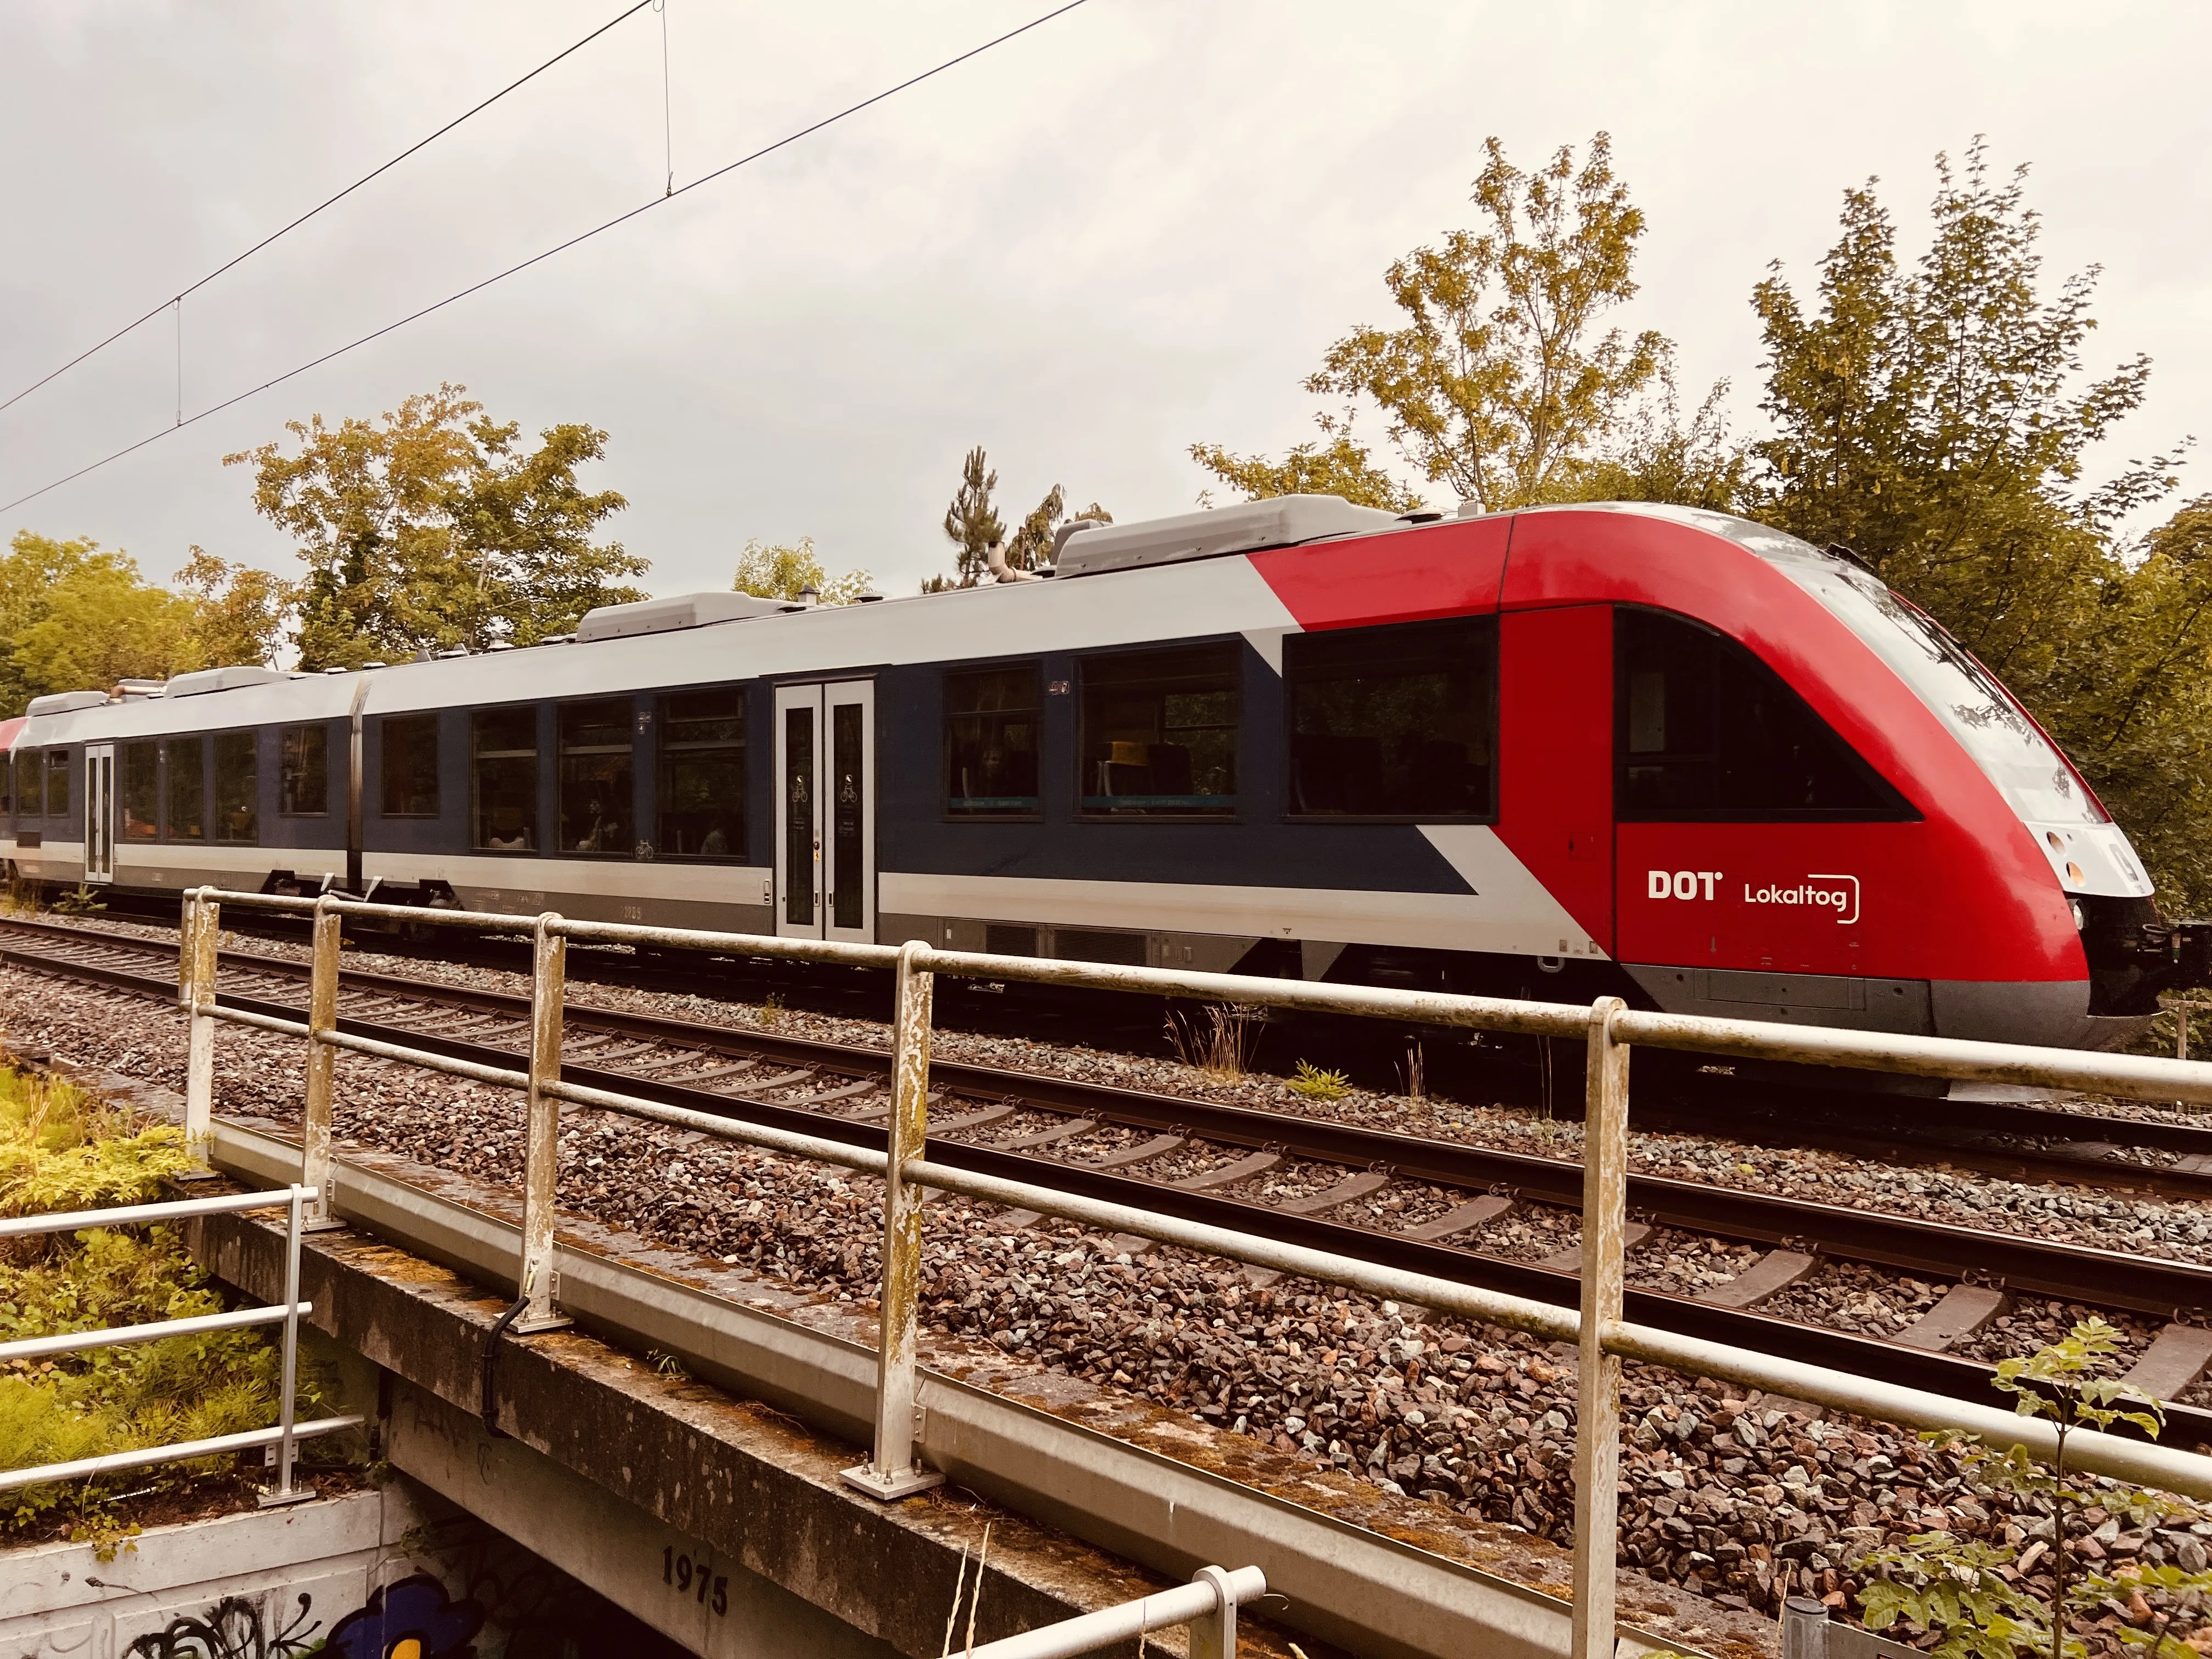
<svg viewBox="0 0 2212 1659"><path fill-rule="evenodd" d="M221 925L221 905L292 911L312 918L312 984L305 1024L219 1004L215 942ZM533 953L531 1053L526 1071L487 1066L473 1060L458 1060L341 1031L338 942L343 918L347 916L529 936ZM568 940L891 971L896 1009L891 1024L887 1150L878 1152L796 1130L748 1124L686 1106L668 1106L611 1088L564 1082L560 1062ZM1243 1006L1367 1015L1462 1031L1566 1037L1586 1044L1579 1310L1555 1307L1433 1274L1385 1267L1358 1256L1310 1250L1201 1221L1183 1221L1137 1206L1075 1197L1026 1181L1009 1181L929 1161L931 987L938 973L964 980L1013 980L1203 998ZM1588 1006L1517 1002L1506 998L1265 980L1234 973L1055 962L1026 956L978 956L940 951L920 940L909 940L900 947L841 945L830 940L712 933L628 922L584 922L557 914L500 916L489 911L374 905L334 894L321 898L281 898L270 894L230 894L212 887L192 889L184 900L179 1002L192 1018L192 1064L186 1095L186 1133L192 1144L206 1144L212 1130L212 1044L217 1020L307 1040L301 1183L314 1188L319 1194L305 1221L307 1228L319 1223L338 1225L332 1219L330 1113L334 1064L341 1051L522 1091L529 1117L522 1186L522 1263L518 1279L520 1298L526 1303L526 1310L515 1329L524 1332L564 1323L557 1312L560 1281L555 1274L553 1239L560 1106L564 1102L883 1177L883 1283L878 1296L880 1338L876 1356L874 1447L869 1460L845 1471L845 1478L854 1486L885 1500L925 1491L942 1480L942 1475L916 1462L914 1444L916 1327L922 1256L920 1199L925 1188L1013 1210L1031 1210L1102 1232L1128 1232L1256 1267L1272 1267L1281 1274L1347 1285L1380 1298L1418 1303L1458 1318L1575 1343L1579 1369L1575 1416L1573 1659L1599 1659L1613 1652L1621 1444L1619 1383L1624 1360L1641 1360L1688 1376L1739 1383L1909 1429L1973 1433L1995 1447L2022 1447L2031 1458L2046 1462L2057 1453L2057 1429L2044 1418L2022 1418L1995 1405L1953 1400L1924 1389L1628 1323L1621 1312L1628 1210L1628 1057L1635 1046L1734 1060L1851 1066L1953 1082L2039 1084L2097 1091L2128 1099L2212 1104L2212 1064L2028 1048L1955 1037L1911 1037L1878 1031L1646 1013L1626 1006L1619 998L1599 998ZM2066 1458L2077 1471L2212 1498L2212 1458L2172 1447L2073 1429L2066 1438Z"/></svg>

